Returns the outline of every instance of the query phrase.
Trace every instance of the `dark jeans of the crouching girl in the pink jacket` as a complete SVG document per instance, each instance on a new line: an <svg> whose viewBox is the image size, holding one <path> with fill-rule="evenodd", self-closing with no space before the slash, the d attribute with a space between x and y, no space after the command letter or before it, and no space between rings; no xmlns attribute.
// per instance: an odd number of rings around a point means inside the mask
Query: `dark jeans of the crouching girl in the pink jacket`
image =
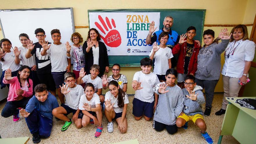
<svg viewBox="0 0 256 144"><path fill-rule="evenodd" d="M8 118L11 115L17 115L19 111L17 110L19 107L26 108L27 103L29 102L30 97L24 97L22 100L18 101L7 101L2 110L2 117Z"/></svg>

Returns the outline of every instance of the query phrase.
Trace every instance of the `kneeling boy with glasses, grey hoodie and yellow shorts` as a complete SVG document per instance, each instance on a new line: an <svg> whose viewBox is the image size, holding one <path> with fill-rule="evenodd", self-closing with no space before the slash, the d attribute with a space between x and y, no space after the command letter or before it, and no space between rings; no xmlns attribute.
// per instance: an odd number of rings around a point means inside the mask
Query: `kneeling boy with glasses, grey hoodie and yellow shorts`
<svg viewBox="0 0 256 144"><path fill-rule="evenodd" d="M211 137L206 132L206 124L203 118L203 111L201 104L205 103L205 97L202 93L202 87L196 85L195 77L193 75L187 75L184 79L185 88L182 89L184 107L176 119L177 127L183 127L187 129L187 122L192 120L201 131L201 135L205 138L207 143L213 143Z"/></svg>

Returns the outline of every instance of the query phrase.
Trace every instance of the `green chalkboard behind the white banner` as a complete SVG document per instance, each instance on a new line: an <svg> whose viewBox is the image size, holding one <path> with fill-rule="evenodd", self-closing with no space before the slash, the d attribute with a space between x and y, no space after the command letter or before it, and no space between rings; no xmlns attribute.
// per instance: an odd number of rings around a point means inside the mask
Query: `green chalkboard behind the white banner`
<svg viewBox="0 0 256 144"><path fill-rule="evenodd" d="M179 34L186 33L189 26L195 26L195 40L202 40L205 21L205 9L115 9L115 10L88 10L90 12L160 12L160 27L163 28L163 19L166 16L173 17L172 30ZM89 22L90 23L90 22ZM148 56L109 56L109 64L119 63L122 67L138 67L140 60Z"/></svg>

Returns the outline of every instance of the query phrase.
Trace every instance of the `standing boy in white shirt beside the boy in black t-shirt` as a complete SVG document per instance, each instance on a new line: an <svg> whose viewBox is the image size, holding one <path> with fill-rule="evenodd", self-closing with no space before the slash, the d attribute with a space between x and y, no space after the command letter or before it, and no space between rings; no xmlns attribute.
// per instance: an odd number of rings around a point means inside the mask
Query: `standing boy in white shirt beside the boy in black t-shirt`
<svg viewBox="0 0 256 144"><path fill-rule="evenodd" d="M51 60L51 74L55 82L55 86L58 89L58 96L61 101L61 105L64 104L64 95L61 93L59 86L64 82L64 74L70 72L71 60L70 60L70 47L66 48L66 45L61 43L61 32L58 29L51 30L51 38L53 40L52 45L48 45L48 42L44 42L42 45L43 50L41 55L45 56L49 54Z"/></svg>

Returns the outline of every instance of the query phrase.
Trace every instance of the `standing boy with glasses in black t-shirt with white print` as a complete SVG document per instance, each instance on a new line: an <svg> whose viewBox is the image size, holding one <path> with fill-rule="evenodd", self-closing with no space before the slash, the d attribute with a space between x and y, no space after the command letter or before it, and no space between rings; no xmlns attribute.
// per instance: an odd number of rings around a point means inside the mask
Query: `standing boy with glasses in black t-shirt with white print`
<svg viewBox="0 0 256 144"><path fill-rule="evenodd" d="M43 50L42 45L45 41L45 31L42 28L35 30L35 37L38 39L38 42L34 43L32 41L28 42L28 51L25 55L26 58L30 58L35 54L35 63L37 66L37 76L40 83L47 85L47 89L51 94L56 95L56 87L54 79L51 75L51 61L49 55L42 56L41 51ZM50 42L48 43L50 44Z"/></svg>

